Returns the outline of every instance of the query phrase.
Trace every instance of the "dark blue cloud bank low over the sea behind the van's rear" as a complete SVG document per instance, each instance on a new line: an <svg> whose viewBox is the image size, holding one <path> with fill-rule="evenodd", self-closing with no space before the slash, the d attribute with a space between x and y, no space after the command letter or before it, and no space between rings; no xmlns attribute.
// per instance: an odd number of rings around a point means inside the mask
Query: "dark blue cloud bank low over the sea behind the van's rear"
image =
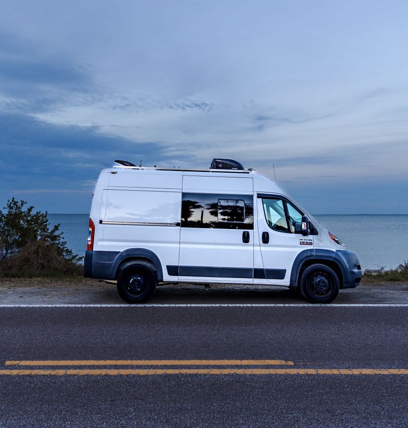
<svg viewBox="0 0 408 428"><path fill-rule="evenodd" d="M105 135L97 127L54 125L23 114L0 113L0 129L4 198L13 192L90 194L99 171L115 159L168 162L155 142Z"/></svg>

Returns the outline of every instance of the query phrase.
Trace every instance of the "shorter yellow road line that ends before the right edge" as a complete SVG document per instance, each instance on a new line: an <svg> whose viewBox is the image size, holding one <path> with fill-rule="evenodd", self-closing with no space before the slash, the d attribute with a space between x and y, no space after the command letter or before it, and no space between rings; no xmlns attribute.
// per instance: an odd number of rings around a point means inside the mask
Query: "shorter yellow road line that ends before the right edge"
<svg viewBox="0 0 408 428"><path fill-rule="evenodd" d="M6 366L293 366L285 360L24 360Z"/></svg>

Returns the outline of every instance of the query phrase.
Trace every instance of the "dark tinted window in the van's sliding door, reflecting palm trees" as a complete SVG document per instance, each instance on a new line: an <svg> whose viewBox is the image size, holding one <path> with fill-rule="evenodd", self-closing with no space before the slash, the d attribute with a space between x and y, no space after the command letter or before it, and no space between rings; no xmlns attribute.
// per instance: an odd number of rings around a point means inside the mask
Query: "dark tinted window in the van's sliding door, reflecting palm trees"
<svg viewBox="0 0 408 428"><path fill-rule="evenodd" d="M253 196L183 193L182 228L253 229Z"/></svg>

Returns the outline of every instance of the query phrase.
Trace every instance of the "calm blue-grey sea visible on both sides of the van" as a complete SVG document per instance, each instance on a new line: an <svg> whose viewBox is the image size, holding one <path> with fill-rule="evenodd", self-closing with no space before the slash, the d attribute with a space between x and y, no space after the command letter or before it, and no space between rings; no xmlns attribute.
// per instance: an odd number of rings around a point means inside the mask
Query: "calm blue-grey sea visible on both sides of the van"
<svg viewBox="0 0 408 428"><path fill-rule="evenodd" d="M316 215L360 259L363 269L395 269L408 261L408 215ZM60 223L68 247L81 256L88 236L88 214L48 214Z"/></svg>

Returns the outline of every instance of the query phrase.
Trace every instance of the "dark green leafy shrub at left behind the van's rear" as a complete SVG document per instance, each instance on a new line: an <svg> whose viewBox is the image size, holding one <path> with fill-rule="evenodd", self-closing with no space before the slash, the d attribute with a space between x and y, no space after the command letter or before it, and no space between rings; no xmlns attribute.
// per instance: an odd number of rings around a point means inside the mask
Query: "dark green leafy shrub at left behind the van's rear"
<svg viewBox="0 0 408 428"><path fill-rule="evenodd" d="M59 224L50 228L47 212L24 209L14 198L0 210L0 276L73 276L82 257L66 246Z"/></svg>

